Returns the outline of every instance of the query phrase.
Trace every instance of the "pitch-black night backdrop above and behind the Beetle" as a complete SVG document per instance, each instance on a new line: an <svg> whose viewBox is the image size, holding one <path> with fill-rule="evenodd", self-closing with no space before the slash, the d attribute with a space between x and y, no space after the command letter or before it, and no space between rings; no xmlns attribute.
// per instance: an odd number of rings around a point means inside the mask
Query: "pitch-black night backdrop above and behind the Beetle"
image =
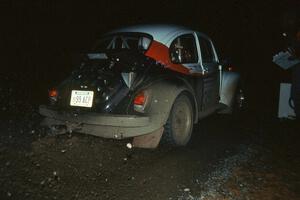
<svg viewBox="0 0 300 200"><path fill-rule="evenodd" d="M102 33L126 25L172 23L208 34L244 77L250 107L275 116L282 47L280 16L297 1L1 1L1 82L34 105L66 77ZM11 99L8 99L11 100Z"/></svg>

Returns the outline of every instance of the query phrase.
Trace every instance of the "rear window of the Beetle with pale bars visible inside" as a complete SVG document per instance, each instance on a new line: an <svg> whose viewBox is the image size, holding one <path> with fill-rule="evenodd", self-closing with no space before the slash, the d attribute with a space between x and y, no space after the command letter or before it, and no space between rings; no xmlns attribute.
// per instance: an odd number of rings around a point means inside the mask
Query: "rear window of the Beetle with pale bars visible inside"
<svg viewBox="0 0 300 200"><path fill-rule="evenodd" d="M139 50L146 51L151 43L151 37L145 34L117 33L104 36L96 42L93 50L119 51L119 50Z"/></svg>

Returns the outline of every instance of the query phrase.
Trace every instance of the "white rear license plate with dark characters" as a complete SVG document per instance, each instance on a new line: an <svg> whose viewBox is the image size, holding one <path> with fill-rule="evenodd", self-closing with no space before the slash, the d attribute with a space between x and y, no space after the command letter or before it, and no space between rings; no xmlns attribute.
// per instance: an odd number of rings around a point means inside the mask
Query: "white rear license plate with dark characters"
<svg viewBox="0 0 300 200"><path fill-rule="evenodd" d="M72 90L70 105L90 108L93 105L93 97L93 91Z"/></svg>

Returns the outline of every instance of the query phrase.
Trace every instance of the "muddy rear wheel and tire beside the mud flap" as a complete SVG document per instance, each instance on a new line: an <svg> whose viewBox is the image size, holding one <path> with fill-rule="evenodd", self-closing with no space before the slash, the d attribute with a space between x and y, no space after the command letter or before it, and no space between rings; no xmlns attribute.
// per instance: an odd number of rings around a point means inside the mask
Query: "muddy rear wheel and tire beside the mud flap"
<svg viewBox="0 0 300 200"><path fill-rule="evenodd" d="M185 146L191 139L193 120L193 106L189 97L179 95L164 126L163 142L172 146Z"/></svg>

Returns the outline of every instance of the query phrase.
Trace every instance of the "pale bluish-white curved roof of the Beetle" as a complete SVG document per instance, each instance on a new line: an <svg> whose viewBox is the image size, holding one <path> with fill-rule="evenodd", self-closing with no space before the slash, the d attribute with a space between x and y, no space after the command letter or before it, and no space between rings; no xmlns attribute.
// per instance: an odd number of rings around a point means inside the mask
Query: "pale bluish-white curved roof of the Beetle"
<svg viewBox="0 0 300 200"><path fill-rule="evenodd" d="M147 33L153 37L154 40L159 42L165 42L168 36L174 35L180 32L193 31L184 26L169 25L169 24L151 24L151 25L136 25L128 26L120 29L116 29L110 32L110 34L118 32L137 32Z"/></svg>

